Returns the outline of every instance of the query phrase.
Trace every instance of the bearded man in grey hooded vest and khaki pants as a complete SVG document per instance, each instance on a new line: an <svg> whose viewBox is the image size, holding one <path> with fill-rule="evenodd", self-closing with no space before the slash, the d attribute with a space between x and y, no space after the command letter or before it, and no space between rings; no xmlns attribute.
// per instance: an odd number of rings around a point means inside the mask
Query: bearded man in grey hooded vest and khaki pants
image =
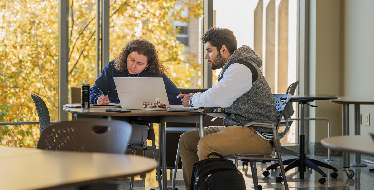
<svg viewBox="0 0 374 190"><path fill-rule="evenodd" d="M181 94L184 107L222 107L224 126L187 131L179 140L183 180L190 189L192 166L211 152L222 156L268 154L273 151L271 129L243 127L248 122L278 124L275 99L260 67L261 59L248 46L237 48L234 33L227 28L211 28L201 37L212 70L223 68L217 85L205 92Z"/></svg>

